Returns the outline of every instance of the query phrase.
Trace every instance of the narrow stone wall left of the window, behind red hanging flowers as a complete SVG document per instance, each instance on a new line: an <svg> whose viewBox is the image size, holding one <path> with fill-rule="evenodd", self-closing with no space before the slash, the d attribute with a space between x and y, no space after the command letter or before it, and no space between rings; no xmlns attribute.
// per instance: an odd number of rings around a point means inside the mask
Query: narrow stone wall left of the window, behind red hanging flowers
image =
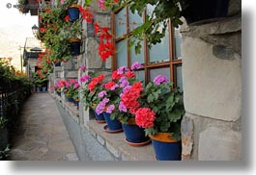
<svg viewBox="0 0 256 175"><path fill-rule="evenodd" d="M84 1L79 0L78 4L83 6ZM81 65L86 65L86 72L81 72L78 70L78 79L80 76L84 74L92 74L94 72L99 72L104 74L107 78L110 79L110 75L112 72L111 69L111 58L107 59L105 63L103 63L100 59L98 48L100 44L100 38L98 38L95 35L94 31L94 23L97 22L101 27L111 27L110 24L110 13L102 13L100 12L100 8L97 1L94 1L91 4L91 8L93 10L94 14L94 20L93 23L87 23L85 20L83 20L82 23L82 29L83 29L83 45L82 50L83 53L78 56L77 58L77 66L78 68ZM80 99L81 93L80 93ZM84 124L85 127L87 127L87 121L89 121L92 118L92 114L90 114L89 111L85 111L84 104L82 100L80 100L79 106L81 107L79 109L79 115L80 122Z"/></svg>

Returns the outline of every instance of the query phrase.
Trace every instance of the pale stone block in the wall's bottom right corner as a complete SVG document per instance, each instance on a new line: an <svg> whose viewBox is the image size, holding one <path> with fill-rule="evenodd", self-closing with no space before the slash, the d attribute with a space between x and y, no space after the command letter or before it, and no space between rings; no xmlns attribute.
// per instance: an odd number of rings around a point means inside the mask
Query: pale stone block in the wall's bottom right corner
<svg viewBox="0 0 256 175"><path fill-rule="evenodd" d="M198 161L240 161L242 133L211 127L199 136Z"/></svg>

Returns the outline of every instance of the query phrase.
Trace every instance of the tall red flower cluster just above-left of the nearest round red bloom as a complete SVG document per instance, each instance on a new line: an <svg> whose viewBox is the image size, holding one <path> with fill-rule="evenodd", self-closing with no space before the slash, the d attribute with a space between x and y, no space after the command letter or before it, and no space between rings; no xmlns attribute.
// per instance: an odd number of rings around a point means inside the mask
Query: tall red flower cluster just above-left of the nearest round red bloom
<svg viewBox="0 0 256 175"><path fill-rule="evenodd" d="M128 108L130 113L135 114L135 112L140 107L137 99L140 97L140 92L143 90L142 83L134 83L130 89L124 92L121 96L121 101Z"/></svg>

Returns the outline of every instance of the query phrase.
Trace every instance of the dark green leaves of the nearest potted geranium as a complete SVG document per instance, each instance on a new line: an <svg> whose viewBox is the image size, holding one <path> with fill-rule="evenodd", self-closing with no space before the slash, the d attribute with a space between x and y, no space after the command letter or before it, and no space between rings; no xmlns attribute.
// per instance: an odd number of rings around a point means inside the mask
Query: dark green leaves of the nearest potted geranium
<svg viewBox="0 0 256 175"><path fill-rule="evenodd" d="M146 128L146 135L157 132L173 133L176 140L181 139L181 121L185 114L183 94L177 88L171 87L171 83L156 85L151 82L142 92L140 104L156 112L155 126Z"/></svg>

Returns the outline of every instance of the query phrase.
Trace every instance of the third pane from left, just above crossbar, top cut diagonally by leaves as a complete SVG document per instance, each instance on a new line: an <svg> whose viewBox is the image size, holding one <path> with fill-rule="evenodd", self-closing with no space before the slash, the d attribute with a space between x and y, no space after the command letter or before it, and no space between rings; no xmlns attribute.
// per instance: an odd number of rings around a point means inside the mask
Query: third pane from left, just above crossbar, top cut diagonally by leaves
<svg viewBox="0 0 256 175"><path fill-rule="evenodd" d="M169 34L166 31L165 37L161 38L161 42L153 45L149 49L150 63L161 63L170 61L170 50L169 50Z"/></svg>

